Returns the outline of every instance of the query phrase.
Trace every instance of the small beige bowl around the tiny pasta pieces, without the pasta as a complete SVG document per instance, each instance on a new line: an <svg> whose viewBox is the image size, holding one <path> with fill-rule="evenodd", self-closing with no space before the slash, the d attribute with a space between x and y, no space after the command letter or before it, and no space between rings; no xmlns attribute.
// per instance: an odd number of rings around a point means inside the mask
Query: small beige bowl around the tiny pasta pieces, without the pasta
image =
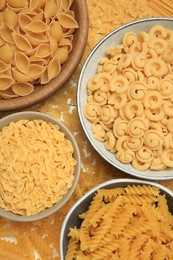
<svg viewBox="0 0 173 260"><path fill-rule="evenodd" d="M0 120L0 130L2 129L2 127L7 126L10 122L17 122L18 120L21 120L21 119L28 119L28 120L41 119L45 122L51 122L52 124L58 125L59 130L65 134L65 138L71 141L71 143L73 145L73 149L74 149L73 157L77 161L77 164L76 164L75 170L74 170L74 180L73 180L71 188L62 197L62 199L59 202L55 203L52 207L47 208L47 209L41 211L40 213L31 215L31 216L23 216L23 215L14 214L10 211L5 211L4 209L0 208L0 216L2 216L2 217L5 217L10 220L14 220L14 221L29 222L29 221L35 221L38 219L42 219L42 218L45 218L45 217L53 214L55 211L57 211L59 208L61 208L70 199L70 197L73 194L75 187L78 183L80 169L81 169L81 161L80 161L79 148L78 148L78 145L76 143L74 136L62 122L53 118L52 116L49 116L49 115L46 115L43 113L39 113L39 112L30 112L30 111L14 113L14 114L6 116Z"/></svg>

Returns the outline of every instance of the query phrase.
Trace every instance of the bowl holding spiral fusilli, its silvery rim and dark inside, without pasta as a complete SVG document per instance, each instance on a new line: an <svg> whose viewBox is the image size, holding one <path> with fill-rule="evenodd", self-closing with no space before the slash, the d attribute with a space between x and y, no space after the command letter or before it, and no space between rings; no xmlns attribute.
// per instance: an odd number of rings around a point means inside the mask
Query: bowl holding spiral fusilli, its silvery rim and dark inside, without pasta
<svg viewBox="0 0 173 260"><path fill-rule="evenodd" d="M169 211L173 213L173 192L164 187L163 185L150 182L150 181L144 181L144 180L136 180L136 179L116 179L116 180L110 180L106 181L95 188L91 189L89 192L87 192L81 199L79 199L73 207L69 210L68 214L66 215L64 222L62 224L61 228L61 234L60 234L60 259L65 260L65 255L67 252L67 246L69 242L69 238L67 237L67 234L69 233L69 229L72 227L79 228L81 225L82 220L78 218L79 214L85 212L95 194L95 192L98 189L112 189L117 187L126 187L127 185L150 185L154 186L160 189L161 194L166 195L166 199L168 202Z"/></svg>

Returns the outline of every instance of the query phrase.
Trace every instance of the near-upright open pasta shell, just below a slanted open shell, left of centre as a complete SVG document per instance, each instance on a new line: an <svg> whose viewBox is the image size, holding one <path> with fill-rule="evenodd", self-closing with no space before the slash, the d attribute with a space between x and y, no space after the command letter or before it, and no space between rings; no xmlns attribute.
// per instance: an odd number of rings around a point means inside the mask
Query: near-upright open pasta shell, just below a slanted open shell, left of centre
<svg viewBox="0 0 173 260"><path fill-rule="evenodd" d="M15 52L14 62L20 72L27 74L30 65L30 61L27 55L20 51Z"/></svg>

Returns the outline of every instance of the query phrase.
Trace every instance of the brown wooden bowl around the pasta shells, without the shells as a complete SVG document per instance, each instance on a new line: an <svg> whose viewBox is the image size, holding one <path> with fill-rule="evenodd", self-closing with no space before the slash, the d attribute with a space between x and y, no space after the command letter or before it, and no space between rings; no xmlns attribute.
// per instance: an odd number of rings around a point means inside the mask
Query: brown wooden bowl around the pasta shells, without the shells
<svg viewBox="0 0 173 260"><path fill-rule="evenodd" d="M63 64L60 74L47 84L35 86L34 91L25 97L16 97L8 100L0 99L0 111L18 110L36 105L53 95L72 76L83 56L87 43L88 9L86 1L75 0L71 9L75 13L75 19L79 24L79 28L74 34L73 49L67 61Z"/></svg>

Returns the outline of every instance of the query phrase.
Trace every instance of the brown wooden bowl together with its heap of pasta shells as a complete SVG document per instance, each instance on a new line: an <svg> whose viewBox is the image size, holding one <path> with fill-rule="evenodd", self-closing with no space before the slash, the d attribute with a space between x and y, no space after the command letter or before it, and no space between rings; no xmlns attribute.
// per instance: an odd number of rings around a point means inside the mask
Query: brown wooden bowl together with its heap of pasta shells
<svg viewBox="0 0 173 260"><path fill-rule="evenodd" d="M0 111L35 105L72 76L88 35L85 0L3 0Z"/></svg>

